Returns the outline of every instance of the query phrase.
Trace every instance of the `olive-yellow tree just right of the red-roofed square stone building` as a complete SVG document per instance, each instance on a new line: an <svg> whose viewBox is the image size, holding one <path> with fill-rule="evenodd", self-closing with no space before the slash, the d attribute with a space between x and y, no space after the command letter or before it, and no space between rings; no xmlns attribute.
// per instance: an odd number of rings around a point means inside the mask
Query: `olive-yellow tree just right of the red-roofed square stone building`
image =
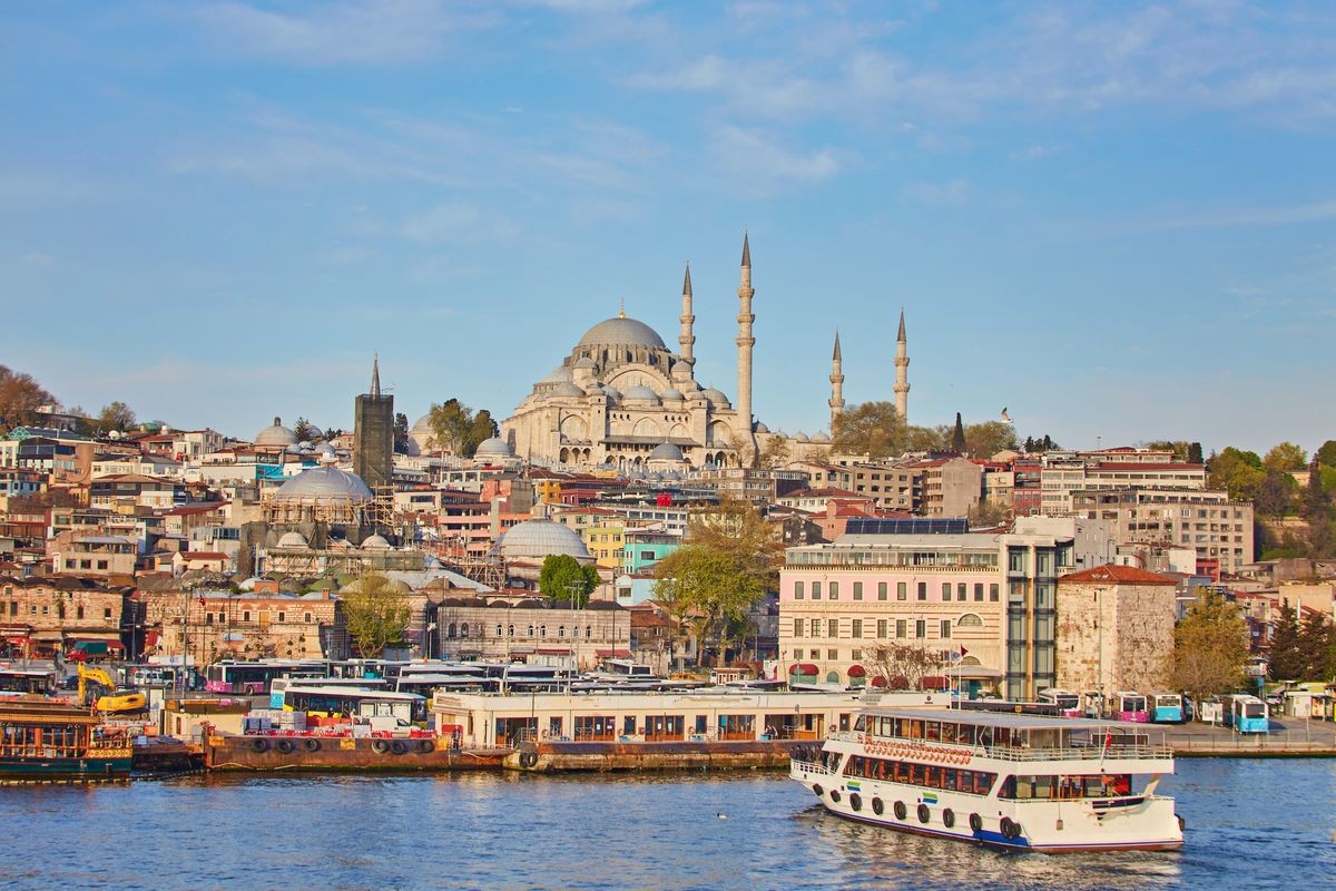
<svg viewBox="0 0 1336 891"><path fill-rule="evenodd" d="M1246 661L1248 625L1238 606L1216 593L1201 594L1174 628L1170 685L1200 704L1238 688Z"/></svg>

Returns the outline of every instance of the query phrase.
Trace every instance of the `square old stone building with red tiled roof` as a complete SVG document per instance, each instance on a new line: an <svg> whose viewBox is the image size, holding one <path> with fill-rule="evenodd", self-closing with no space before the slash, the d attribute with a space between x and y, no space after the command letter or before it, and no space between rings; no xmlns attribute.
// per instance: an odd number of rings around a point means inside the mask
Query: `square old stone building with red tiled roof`
<svg viewBox="0 0 1336 891"><path fill-rule="evenodd" d="M1173 578L1097 566L1058 580L1057 687L1154 693L1173 653Z"/></svg>

